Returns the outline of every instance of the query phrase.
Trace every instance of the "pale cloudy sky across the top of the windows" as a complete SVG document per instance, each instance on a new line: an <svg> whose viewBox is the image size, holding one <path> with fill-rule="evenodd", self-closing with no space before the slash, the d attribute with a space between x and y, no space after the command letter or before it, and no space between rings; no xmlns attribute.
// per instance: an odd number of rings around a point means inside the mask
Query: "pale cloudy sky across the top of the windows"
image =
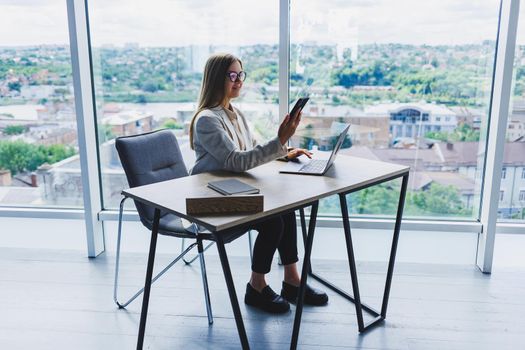
<svg viewBox="0 0 525 350"><path fill-rule="evenodd" d="M278 43L278 0L88 0L88 3L95 46ZM450 45L495 40L499 12L499 0L291 0L290 6L292 43L347 47L368 43ZM0 46L69 41L64 0L0 0L0 23L4 28ZM521 27L519 31L523 31Z"/></svg>

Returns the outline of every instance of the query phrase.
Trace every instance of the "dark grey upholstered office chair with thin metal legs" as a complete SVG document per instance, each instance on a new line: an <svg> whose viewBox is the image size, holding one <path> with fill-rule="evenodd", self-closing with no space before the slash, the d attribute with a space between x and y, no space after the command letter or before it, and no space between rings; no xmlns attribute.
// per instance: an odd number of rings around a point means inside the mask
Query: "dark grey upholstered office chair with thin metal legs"
<svg viewBox="0 0 525 350"><path fill-rule="evenodd" d="M188 170L182 159L182 154L177 143L175 135L169 130L153 131L146 134L133 135L119 137L115 141L115 147L117 148L120 161L126 178L130 187L137 187L156 183L160 181L166 181L176 179L183 176L188 176ZM174 194L176 195L176 194ZM115 265L115 283L113 289L113 300L119 308L125 308L133 300L135 300L140 294L144 292L144 288L136 292L128 301L121 303L118 301L118 273L119 273L119 262L120 262L120 242L122 234L122 213L124 210L124 202L127 198L123 198L120 202L119 209L119 223L118 223L118 236L117 236L117 257ZM135 201L135 207L137 208L140 221L149 230L152 229L153 225L153 213L154 210L147 205ZM206 278L206 266L204 261L204 251L210 247L211 242L206 248L203 247L202 239L198 239L200 234L197 225L192 224L188 229L185 229L182 225L181 219L173 214L161 213L159 223L159 234L179 237L182 238L181 253L173 259L161 272L159 272L153 279L154 283L159 279L166 271L168 271L177 261L183 259L184 256L197 246L198 254L190 259L184 260L186 264L191 264L195 259L200 259L202 283L204 287L204 298L206 302L206 312L208 314L209 324L213 323L213 315L210 304L210 295L208 290L208 280ZM252 256L252 242L251 232L248 232L249 244L250 244L250 258ZM184 240L191 239L195 240L194 243L190 244L187 248L184 246Z"/></svg>

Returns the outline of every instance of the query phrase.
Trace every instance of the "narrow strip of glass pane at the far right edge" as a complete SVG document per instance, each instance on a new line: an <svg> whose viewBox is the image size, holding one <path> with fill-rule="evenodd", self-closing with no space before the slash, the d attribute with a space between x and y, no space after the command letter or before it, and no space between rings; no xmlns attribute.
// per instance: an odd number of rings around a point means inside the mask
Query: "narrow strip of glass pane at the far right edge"
<svg viewBox="0 0 525 350"><path fill-rule="evenodd" d="M518 22L498 217L500 221L525 222L525 8L523 6L520 7Z"/></svg>

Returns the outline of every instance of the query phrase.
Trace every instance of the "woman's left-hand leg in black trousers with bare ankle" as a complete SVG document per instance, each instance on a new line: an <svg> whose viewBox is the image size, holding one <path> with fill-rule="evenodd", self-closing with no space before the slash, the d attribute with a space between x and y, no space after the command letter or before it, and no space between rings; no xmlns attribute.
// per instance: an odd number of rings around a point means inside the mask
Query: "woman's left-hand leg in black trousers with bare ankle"
<svg viewBox="0 0 525 350"><path fill-rule="evenodd" d="M252 275L250 284L257 291L267 286L265 274L270 272L273 256L283 235L283 220L280 216L265 220L253 227L259 232L253 247Z"/></svg>

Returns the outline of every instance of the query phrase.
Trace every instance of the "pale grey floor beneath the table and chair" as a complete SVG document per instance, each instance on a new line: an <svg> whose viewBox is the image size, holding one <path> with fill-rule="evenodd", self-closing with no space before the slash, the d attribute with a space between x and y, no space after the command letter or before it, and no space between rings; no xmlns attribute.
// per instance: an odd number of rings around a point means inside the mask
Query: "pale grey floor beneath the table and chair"
<svg viewBox="0 0 525 350"><path fill-rule="evenodd" d="M213 248L214 249L214 248ZM114 256L86 259L75 251L0 248L0 349L132 349L140 300L112 302ZM160 254L156 266L170 256ZM255 349L288 348L294 308L269 316L242 302L249 259L230 259L248 338ZM350 289L347 264L314 260L316 271ZM144 279L145 255L126 253L122 292ZM198 264L176 265L154 285L145 348L237 349L239 342L222 270L207 258L215 323L208 327ZM385 263L361 262L363 299L379 305ZM279 290L282 268L270 275ZM314 282L312 282L315 284ZM318 285L317 285L318 286ZM387 321L359 335L352 304L329 293L326 307L306 307L301 349L525 349L525 268L491 276L473 265L396 265Z"/></svg>

